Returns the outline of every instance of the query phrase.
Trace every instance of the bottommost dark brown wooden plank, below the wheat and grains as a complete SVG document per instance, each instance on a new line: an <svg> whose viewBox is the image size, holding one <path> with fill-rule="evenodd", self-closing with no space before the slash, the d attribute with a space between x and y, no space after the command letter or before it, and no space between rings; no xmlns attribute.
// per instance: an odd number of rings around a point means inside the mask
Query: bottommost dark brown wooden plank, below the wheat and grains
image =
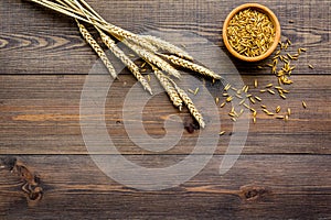
<svg viewBox="0 0 331 220"><path fill-rule="evenodd" d="M147 167L183 160L175 155L127 158ZM122 186L88 156L21 156L19 162L39 174L43 187L43 198L33 207L21 190L23 182L8 170L4 160L0 162L4 164L0 170L0 216L4 219L330 218L329 155L246 155L223 176L218 174L222 156L214 156L188 183L160 191Z"/></svg>

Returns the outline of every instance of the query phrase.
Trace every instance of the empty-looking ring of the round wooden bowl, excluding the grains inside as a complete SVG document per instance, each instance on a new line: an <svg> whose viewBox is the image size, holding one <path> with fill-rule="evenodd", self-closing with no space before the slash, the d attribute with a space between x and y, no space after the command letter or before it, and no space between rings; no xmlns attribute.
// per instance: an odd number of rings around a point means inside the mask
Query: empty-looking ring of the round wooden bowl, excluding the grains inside
<svg viewBox="0 0 331 220"><path fill-rule="evenodd" d="M238 52L236 52L232 46L231 44L228 43L228 38L227 38L227 28L228 28L228 24L229 24L229 21L234 18L235 14L237 14L239 11L243 11L245 9L254 9L254 10L257 10L261 13L265 13L266 15L268 15L268 18L270 19L270 21L273 22L274 26L275 26L275 30L276 30L276 35L275 35L275 41L274 41L274 44L267 50L266 53L259 55L259 56L255 56L255 57L249 57L249 56L245 56L245 55L242 55L239 54ZM280 24L279 24L279 21L277 19L277 16L275 15L275 13L268 9L267 7L265 6L261 6L261 4L258 4L258 3L246 3L246 4L242 4L237 8L235 8L226 18L225 22L224 22L224 25L223 25L223 41L224 41L224 44L226 46L226 48L228 50L228 52L242 59L242 61L245 61L245 62L259 62L259 61L263 61L265 58L267 58L268 56L270 56L273 54L273 52L277 48L277 45L278 45L278 42L280 40Z"/></svg>

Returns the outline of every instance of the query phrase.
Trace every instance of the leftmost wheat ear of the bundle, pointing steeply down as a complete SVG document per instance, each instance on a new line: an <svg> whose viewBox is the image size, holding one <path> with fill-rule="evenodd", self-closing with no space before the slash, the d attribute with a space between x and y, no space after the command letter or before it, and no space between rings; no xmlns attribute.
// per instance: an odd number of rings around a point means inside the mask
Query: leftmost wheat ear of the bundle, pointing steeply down
<svg viewBox="0 0 331 220"><path fill-rule="evenodd" d="M89 32L87 31L87 29L81 24L77 20L77 25L79 28L79 31L83 35L83 37L85 38L85 41L90 45L90 47L98 54L98 56L100 57L100 59L103 61L103 63L105 64L105 66L107 67L110 76L113 78L116 78L116 70L113 66L113 64L110 63L110 61L108 59L107 55L105 54L105 52L103 51L103 48L98 45L98 43L93 38L93 36L89 34Z"/></svg>

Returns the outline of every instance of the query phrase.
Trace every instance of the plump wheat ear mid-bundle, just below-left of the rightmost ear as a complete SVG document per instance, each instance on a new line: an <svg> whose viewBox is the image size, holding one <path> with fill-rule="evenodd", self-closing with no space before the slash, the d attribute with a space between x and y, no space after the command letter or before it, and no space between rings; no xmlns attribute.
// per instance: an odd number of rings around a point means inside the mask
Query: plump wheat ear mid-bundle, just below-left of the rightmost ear
<svg viewBox="0 0 331 220"><path fill-rule="evenodd" d="M136 44L129 43L128 41L124 41L124 43L146 62L156 65L160 69L167 72L169 75L180 78L180 73L173 66L168 64L164 59L160 58L158 55L145 48L141 48Z"/></svg>

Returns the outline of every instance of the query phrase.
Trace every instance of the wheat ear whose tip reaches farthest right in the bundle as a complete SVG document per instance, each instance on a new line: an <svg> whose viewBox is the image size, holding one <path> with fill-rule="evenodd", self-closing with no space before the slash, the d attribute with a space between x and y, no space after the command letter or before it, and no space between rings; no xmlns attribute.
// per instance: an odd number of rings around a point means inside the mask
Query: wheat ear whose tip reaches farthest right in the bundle
<svg viewBox="0 0 331 220"><path fill-rule="evenodd" d="M177 56L173 56L173 55L163 55L162 54L161 56L169 59L174 65L191 69L191 70L193 70L195 73L199 73L203 76L207 76L207 77L211 77L213 79L222 79L222 77L220 75L215 74L211 69L207 69L207 68L205 68L205 67L203 67L199 64L194 64L190 61L185 61L183 58L180 58L180 57L177 57Z"/></svg>

